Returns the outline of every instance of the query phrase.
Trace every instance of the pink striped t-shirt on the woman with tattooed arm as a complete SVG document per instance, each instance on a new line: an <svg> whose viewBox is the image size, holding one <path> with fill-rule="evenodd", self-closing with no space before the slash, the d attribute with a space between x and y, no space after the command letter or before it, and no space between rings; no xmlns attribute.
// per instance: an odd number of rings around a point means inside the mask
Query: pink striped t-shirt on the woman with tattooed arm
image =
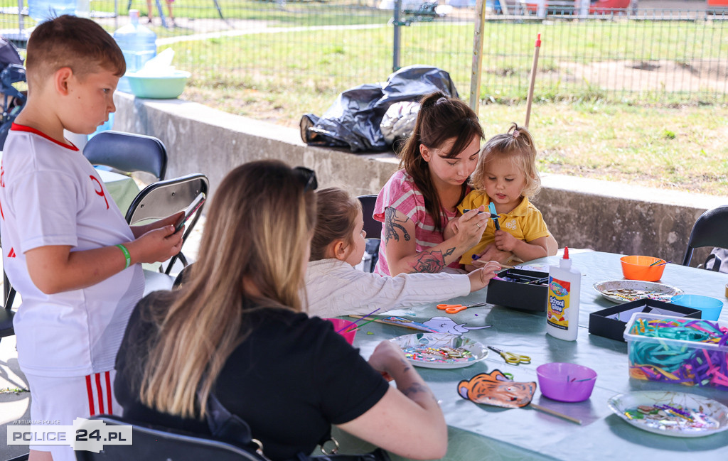
<svg viewBox="0 0 728 461"><path fill-rule="evenodd" d="M389 178L387 184L379 191L376 198L373 217L377 221L384 223L384 210L392 207L397 212L407 215L414 222L415 233L414 239L417 252L424 252L432 246L443 243L443 234L435 230L435 220L427 213L424 208L424 197L414 184L414 180L405 170L400 169ZM448 220L451 220L456 212L446 212ZM381 229L381 245L379 246L379 262L376 263L374 272L379 275L389 276L389 265L387 265L387 239L385 238L386 230ZM457 261L448 265L449 268L462 268Z"/></svg>

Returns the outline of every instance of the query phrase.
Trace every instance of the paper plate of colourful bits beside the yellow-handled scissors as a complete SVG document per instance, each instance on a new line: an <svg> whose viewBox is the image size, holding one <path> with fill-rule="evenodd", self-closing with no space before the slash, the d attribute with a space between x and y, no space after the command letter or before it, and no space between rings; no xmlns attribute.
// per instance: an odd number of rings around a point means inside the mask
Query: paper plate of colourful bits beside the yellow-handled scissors
<svg viewBox="0 0 728 461"><path fill-rule="evenodd" d="M415 366L463 368L488 356L480 342L457 334L416 333L392 338Z"/></svg>

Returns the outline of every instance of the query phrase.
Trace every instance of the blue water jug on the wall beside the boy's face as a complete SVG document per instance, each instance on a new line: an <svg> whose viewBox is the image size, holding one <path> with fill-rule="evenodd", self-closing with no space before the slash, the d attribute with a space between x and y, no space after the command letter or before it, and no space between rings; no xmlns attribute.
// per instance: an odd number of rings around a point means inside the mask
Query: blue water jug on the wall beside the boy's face
<svg viewBox="0 0 728 461"><path fill-rule="evenodd" d="M127 62L127 73L140 70L144 63L157 55L157 34L139 24L139 10L129 10L130 23L114 32L114 40L124 53ZM116 89L131 92L126 76L119 79Z"/></svg>

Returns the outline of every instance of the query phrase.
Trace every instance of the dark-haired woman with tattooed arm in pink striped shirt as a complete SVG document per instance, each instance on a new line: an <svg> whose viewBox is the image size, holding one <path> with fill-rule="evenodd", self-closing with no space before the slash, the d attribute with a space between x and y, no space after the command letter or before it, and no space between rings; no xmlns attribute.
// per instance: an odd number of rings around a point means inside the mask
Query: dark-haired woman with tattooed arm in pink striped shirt
<svg viewBox="0 0 728 461"><path fill-rule="evenodd" d="M440 92L422 98L400 169L376 200L374 219L384 223L376 273L462 271L459 257L480 241L488 220L477 210L454 219L470 192L483 137L478 116L462 100ZM456 234L446 240L447 225Z"/></svg>

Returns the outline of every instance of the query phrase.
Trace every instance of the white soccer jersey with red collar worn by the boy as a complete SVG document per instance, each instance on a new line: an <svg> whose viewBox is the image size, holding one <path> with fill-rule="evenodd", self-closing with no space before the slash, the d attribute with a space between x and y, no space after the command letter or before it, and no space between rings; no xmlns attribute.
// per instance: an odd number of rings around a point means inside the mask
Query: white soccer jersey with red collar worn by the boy
<svg viewBox="0 0 728 461"><path fill-rule="evenodd" d="M95 169L74 145L14 124L0 165L0 235L7 276L23 297L15 316L21 369L70 377L114 369L128 318L141 299L141 265L84 289L44 294L25 252L123 244L134 236Z"/></svg>

